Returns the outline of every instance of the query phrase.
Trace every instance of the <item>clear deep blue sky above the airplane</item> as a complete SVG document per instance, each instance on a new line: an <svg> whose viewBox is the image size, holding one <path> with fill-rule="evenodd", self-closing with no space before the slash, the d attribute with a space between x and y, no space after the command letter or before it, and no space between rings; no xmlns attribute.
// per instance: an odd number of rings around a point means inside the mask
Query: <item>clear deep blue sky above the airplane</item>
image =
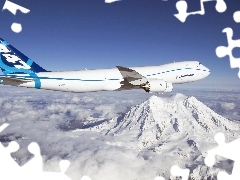
<svg viewBox="0 0 240 180"><path fill-rule="evenodd" d="M219 59L216 47L227 46L222 30L231 27L240 39L240 24L233 13L240 1L227 1L227 11L206 2L204 16L189 16L185 23L177 13L176 0L12 0L30 9L29 14L0 14L1 37L48 70L79 70L122 66L160 65L198 60L211 74L193 86L240 87L238 69L229 58ZM5 1L1 1L3 6ZM188 0L189 10L200 9L200 0ZM12 22L23 31L11 31ZM234 56L240 57L239 49ZM190 85L190 84L189 84Z"/></svg>

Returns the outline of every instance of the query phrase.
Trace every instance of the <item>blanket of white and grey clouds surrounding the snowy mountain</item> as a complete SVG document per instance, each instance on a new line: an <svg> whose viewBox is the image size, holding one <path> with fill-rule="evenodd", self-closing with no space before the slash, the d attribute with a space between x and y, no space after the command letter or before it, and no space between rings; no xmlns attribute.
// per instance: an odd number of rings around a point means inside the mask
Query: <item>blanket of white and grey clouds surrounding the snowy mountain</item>
<svg viewBox="0 0 240 180"><path fill-rule="evenodd" d="M92 131L84 129L87 125L100 123L115 125L117 120L121 120L118 117L131 106L153 94L143 91L75 94L0 88L0 123L10 124L0 138L17 140L21 145L20 150L13 154L21 165L31 157L27 145L35 141L41 147L45 170L59 170L59 161L68 159L71 166L66 173L73 180L83 175L93 180L154 179L163 173L168 177L174 162L164 154L131 149L117 137L94 132L94 128ZM157 96L168 97L173 93ZM196 96L225 117L239 117L238 92L185 91L184 94ZM173 158L178 161L177 156ZM163 166L169 171L163 171Z"/></svg>

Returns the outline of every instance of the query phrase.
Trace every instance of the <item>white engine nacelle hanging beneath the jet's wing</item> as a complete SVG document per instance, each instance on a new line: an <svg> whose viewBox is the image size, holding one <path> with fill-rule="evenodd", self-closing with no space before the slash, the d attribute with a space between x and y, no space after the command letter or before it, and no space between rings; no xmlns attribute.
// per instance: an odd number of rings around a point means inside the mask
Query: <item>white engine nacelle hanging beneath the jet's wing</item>
<svg viewBox="0 0 240 180"><path fill-rule="evenodd" d="M172 83L166 82L164 80L150 80L145 84L142 84L140 86L143 88L146 92L171 92L173 90Z"/></svg>

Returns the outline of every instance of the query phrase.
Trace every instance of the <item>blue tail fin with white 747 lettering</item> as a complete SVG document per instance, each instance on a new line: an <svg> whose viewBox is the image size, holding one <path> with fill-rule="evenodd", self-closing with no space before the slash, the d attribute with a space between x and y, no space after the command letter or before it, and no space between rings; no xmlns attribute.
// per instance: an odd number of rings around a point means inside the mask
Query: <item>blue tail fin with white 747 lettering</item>
<svg viewBox="0 0 240 180"><path fill-rule="evenodd" d="M30 58L0 38L0 68L3 74L47 72Z"/></svg>

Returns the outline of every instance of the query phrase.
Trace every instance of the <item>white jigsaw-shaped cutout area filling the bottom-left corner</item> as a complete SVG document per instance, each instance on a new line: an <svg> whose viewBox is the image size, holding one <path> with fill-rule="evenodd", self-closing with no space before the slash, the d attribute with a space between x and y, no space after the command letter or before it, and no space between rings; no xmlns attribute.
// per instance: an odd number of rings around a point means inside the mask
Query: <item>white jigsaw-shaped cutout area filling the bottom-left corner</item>
<svg viewBox="0 0 240 180"><path fill-rule="evenodd" d="M8 124L1 125L0 132L2 132L7 126ZM21 167L11 157L11 153L18 151L18 149L19 144L15 141L10 142L7 147L4 147L0 143L0 179L6 179L7 177L8 179L24 180L71 180L65 174L66 170L70 166L70 162L68 160L60 161L60 172L44 172L40 147L37 143L32 142L28 145L28 151L34 155L34 158L29 160L25 165ZM81 180L91 180L91 178L88 176L83 176Z"/></svg>

